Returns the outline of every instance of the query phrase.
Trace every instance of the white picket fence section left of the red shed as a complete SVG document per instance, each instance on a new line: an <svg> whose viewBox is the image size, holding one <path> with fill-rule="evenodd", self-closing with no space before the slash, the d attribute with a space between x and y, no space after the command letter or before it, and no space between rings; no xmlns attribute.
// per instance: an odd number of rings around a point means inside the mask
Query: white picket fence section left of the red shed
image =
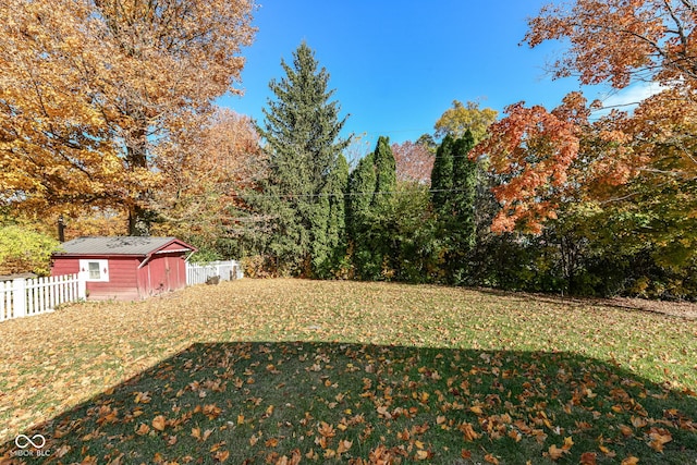
<svg viewBox="0 0 697 465"><path fill-rule="evenodd" d="M0 321L53 311L86 297L86 280L77 274L0 281Z"/></svg>

